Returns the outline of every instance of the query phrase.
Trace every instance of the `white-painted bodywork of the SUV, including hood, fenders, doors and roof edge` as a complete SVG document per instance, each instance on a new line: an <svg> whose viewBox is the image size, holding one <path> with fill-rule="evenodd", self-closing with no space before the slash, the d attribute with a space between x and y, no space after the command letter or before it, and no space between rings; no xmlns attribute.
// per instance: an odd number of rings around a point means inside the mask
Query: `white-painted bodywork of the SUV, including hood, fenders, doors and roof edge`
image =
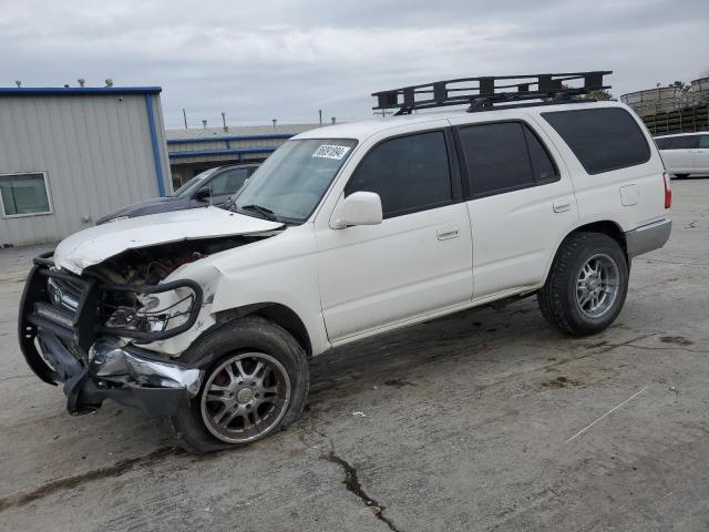
<svg viewBox="0 0 709 532"><path fill-rule="evenodd" d="M578 106L555 105L554 110ZM583 104L583 109L595 106L627 109L615 102ZM308 222L187 264L168 276L166 282L193 278L214 297L205 303L195 327L152 347L178 355L214 324L219 313L278 304L300 317L312 354L318 355L332 345L533 291L544 284L562 241L580 225L609 221L621 231L630 231L668 217L657 150L650 150L645 164L588 175L540 116L546 110L421 113L297 135L296 139L356 139L358 144ZM342 225L337 221L347 202L345 186L376 143L451 124L499 120L527 122L547 144L559 166L561 180L387 218L374 225L335 228ZM653 146L647 130L636 120ZM619 191L628 185L638 191L638 201L624 207ZM371 213L367 219L379 222ZM277 223L218 208L165 213L73 235L59 246L55 259L58 265L79 273L132 247L278 227Z"/></svg>

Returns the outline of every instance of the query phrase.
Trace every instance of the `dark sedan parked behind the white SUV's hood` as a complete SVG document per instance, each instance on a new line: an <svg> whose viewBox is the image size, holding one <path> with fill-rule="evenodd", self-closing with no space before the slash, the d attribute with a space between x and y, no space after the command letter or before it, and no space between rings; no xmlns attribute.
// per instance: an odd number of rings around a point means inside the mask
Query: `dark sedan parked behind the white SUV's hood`
<svg viewBox="0 0 709 532"><path fill-rule="evenodd" d="M96 225L146 214L222 205L238 191L258 168L258 164L234 164L205 170L177 188L172 196L155 197L123 207L96 221Z"/></svg>

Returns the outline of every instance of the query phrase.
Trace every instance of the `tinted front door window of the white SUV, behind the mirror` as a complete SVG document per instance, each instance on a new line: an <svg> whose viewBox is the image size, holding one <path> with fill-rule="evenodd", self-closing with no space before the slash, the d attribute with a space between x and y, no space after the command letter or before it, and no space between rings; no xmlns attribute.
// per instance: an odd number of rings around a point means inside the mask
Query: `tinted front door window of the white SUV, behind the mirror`
<svg viewBox="0 0 709 532"><path fill-rule="evenodd" d="M379 194L386 218L451 203L443 132L401 136L376 145L345 187L346 196L353 192Z"/></svg>

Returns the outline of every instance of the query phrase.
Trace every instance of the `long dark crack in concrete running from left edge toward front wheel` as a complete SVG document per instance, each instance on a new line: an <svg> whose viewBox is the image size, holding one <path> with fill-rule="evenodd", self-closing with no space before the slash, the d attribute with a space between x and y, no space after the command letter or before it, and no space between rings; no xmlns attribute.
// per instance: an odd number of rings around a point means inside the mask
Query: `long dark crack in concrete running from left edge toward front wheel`
<svg viewBox="0 0 709 532"><path fill-rule="evenodd" d="M153 452L145 454L144 457L130 458L127 460L121 460L120 462L109 466L106 468L94 469L86 471L85 473L75 474L73 477L65 477L63 479L53 480L39 488L24 492L16 493L0 498L0 512L3 512L10 508L24 507L30 502L43 499L52 495L56 492L71 490L85 482L92 482L94 480L107 479L112 477L121 477L123 473L135 469L138 466L160 460L171 454L182 454L184 451L179 451L173 447L162 447Z"/></svg>

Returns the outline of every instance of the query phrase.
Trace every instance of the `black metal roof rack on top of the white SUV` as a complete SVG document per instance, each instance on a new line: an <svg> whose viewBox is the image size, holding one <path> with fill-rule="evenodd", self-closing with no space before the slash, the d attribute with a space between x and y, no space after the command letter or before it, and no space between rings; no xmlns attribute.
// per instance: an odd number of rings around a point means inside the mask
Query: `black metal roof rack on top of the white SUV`
<svg viewBox="0 0 709 532"><path fill-rule="evenodd" d="M567 103L569 100L574 100L574 96L610 89L610 85L603 84L603 76L612 73L613 71L605 70L561 74L489 75L435 81L374 92L372 96L377 96L378 105L372 109L376 111L397 109L394 114L399 115L411 114L413 110L446 105L470 104L467 112L474 112L494 109L494 105L500 103L508 104L531 100L541 100L541 102L505 106ZM578 84L578 80L583 80L583 86L571 86ZM477 84L476 86L460 86L462 84L470 85L470 82ZM572 83L569 84L569 82Z"/></svg>

